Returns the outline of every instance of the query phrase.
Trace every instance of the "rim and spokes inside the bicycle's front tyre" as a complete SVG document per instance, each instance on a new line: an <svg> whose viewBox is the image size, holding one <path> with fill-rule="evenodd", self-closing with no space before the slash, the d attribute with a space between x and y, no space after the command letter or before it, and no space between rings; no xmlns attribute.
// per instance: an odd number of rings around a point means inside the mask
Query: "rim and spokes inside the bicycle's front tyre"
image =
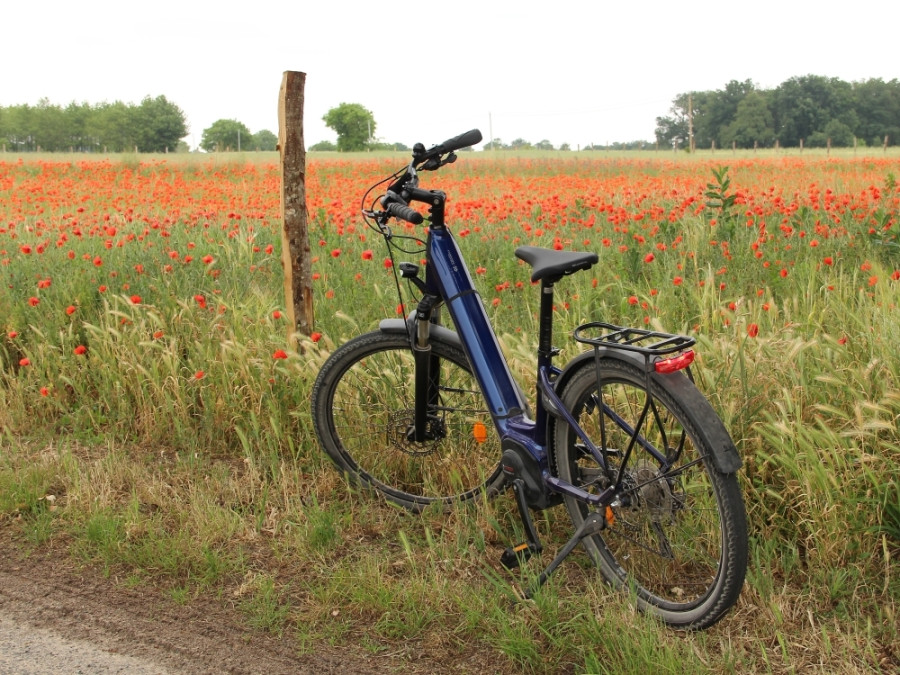
<svg viewBox="0 0 900 675"><path fill-rule="evenodd" d="M410 432L415 369L408 346L377 346L355 360L330 401L330 427L345 462L361 480L403 502L468 499L499 473L495 439L480 442L473 433L476 424L492 426L474 378L459 356L435 360L440 386L424 442Z"/></svg>

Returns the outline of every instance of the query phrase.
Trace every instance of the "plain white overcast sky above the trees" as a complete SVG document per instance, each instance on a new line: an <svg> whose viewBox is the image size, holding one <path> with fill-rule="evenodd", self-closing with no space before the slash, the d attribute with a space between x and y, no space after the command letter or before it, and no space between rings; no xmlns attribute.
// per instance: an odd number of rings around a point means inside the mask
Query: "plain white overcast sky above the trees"
<svg viewBox="0 0 900 675"><path fill-rule="evenodd" d="M800 75L900 77L900 3L756 0L10 0L0 106L165 96L196 147L217 119L278 133L282 73L322 116L372 111L376 137L431 145L478 127L575 149L653 140L686 91Z"/></svg>

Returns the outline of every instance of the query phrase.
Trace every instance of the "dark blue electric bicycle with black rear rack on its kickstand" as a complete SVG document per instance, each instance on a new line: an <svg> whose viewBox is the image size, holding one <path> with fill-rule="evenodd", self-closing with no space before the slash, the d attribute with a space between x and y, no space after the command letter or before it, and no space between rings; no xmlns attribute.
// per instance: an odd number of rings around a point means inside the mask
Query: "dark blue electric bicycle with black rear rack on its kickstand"
<svg viewBox="0 0 900 675"><path fill-rule="evenodd" d="M429 150L418 143L406 167L363 197L363 216L392 259L424 248L426 264L424 275L409 262L394 268L398 293L406 279L419 295L406 319L382 320L323 365L312 393L319 441L351 483L413 511L511 488L526 541L504 551L507 568L542 551L531 511L564 503L574 534L526 597L582 543L642 611L676 628L707 628L741 592L747 522L741 458L693 383L695 340L591 322L574 331L588 349L553 366L554 285L599 258L520 247L515 255L540 283L532 414L444 221L446 195L419 187L419 172L480 140L473 129ZM413 202L429 207L424 241L389 227L391 218L425 222ZM444 306L455 330L441 325Z"/></svg>

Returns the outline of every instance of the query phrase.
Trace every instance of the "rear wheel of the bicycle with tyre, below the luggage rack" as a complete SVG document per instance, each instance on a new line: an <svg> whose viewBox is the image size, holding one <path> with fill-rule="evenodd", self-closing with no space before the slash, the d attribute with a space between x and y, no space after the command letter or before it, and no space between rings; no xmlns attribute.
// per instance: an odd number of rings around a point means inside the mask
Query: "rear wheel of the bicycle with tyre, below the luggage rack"
<svg viewBox="0 0 900 675"><path fill-rule="evenodd" d="M740 595L747 520L736 475L713 462L702 421L714 413L688 390L696 394L680 372L648 379L628 361L587 360L560 397L607 468L562 420L553 438L561 479L593 493L618 486L606 527L583 540L604 578L667 624L702 629ZM577 528L587 506L567 497L566 507Z"/></svg>

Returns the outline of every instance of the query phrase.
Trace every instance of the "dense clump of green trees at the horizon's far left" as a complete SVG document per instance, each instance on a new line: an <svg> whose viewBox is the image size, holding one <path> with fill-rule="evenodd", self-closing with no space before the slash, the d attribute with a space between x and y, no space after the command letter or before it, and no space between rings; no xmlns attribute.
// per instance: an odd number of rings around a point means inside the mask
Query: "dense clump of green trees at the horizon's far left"
<svg viewBox="0 0 900 675"><path fill-rule="evenodd" d="M140 104L75 103L0 107L0 145L13 152L167 152L187 136L187 121L165 96Z"/></svg>

